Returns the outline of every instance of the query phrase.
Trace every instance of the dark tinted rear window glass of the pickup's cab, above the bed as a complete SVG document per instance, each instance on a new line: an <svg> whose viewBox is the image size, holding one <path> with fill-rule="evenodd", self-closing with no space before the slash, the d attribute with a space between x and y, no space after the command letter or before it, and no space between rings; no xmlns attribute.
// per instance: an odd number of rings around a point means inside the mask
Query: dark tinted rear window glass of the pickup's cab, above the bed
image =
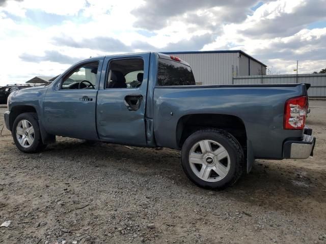
<svg viewBox="0 0 326 244"><path fill-rule="evenodd" d="M189 66L160 58L158 59L157 85L196 85L196 82Z"/></svg>

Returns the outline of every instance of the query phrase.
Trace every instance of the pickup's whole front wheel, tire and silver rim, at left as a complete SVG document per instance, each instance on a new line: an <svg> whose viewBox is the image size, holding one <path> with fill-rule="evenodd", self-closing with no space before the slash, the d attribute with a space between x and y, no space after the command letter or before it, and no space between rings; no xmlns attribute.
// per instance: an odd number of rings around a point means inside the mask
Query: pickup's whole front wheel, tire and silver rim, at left
<svg viewBox="0 0 326 244"><path fill-rule="evenodd" d="M34 153L46 146L42 142L36 113L19 114L13 124L12 136L17 148L24 153Z"/></svg>

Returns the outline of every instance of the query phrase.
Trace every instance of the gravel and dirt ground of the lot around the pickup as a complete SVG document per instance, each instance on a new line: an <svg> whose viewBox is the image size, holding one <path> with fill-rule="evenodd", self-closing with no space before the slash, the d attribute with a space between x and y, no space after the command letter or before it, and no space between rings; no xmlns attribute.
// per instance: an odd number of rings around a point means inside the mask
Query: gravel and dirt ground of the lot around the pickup
<svg viewBox="0 0 326 244"><path fill-rule="evenodd" d="M326 101L310 108L313 158L256 160L223 191L194 186L178 151L58 137L23 154L4 129L0 242L326 243Z"/></svg>

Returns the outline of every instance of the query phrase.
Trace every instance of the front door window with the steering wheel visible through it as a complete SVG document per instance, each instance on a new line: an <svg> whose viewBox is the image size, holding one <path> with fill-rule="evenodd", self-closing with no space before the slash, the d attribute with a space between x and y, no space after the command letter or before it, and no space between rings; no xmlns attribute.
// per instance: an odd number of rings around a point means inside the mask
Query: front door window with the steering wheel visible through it
<svg viewBox="0 0 326 244"><path fill-rule="evenodd" d="M77 67L64 78L61 89L95 89L97 69L98 62Z"/></svg>

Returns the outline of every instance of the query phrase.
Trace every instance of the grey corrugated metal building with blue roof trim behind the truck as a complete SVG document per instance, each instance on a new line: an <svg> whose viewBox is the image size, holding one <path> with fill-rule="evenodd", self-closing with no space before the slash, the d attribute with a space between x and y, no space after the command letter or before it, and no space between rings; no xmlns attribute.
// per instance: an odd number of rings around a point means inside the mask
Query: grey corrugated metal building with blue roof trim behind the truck
<svg viewBox="0 0 326 244"><path fill-rule="evenodd" d="M232 84L236 76L266 74L266 65L241 50L164 53L189 63L198 84Z"/></svg>

